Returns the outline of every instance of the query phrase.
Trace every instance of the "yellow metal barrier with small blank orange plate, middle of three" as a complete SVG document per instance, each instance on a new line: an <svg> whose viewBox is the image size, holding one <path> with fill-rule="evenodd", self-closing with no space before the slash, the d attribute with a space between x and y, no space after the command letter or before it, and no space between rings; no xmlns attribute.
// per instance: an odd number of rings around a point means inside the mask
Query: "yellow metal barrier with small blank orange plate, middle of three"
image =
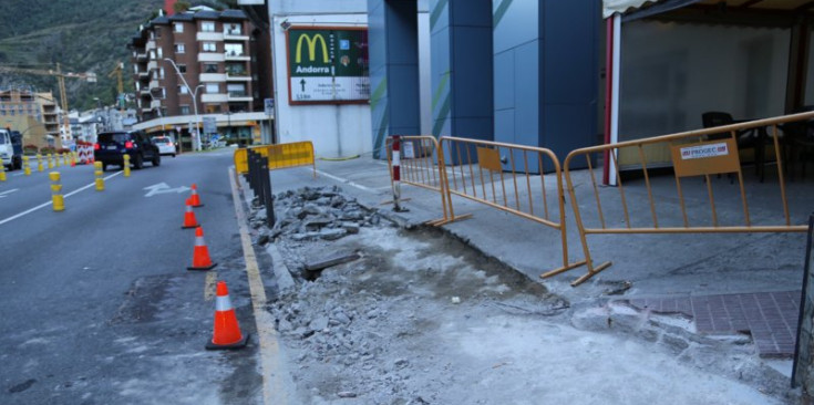
<svg viewBox="0 0 814 405"><path fill-rule="evenodd" d="M565 202L559 159L550 149L497 142L441 137L442 189L450 206L450 220L456 220L452 195L514 214L559 231L563 267L556 274L581 266L568 262ZM449 167L449 169L445 169ZM550 172L554 177L544 175ZM546 185L546 180L553 185ZM548 190L549 187L553 190ZM556 199L556 201L552 201Z"/></svg>

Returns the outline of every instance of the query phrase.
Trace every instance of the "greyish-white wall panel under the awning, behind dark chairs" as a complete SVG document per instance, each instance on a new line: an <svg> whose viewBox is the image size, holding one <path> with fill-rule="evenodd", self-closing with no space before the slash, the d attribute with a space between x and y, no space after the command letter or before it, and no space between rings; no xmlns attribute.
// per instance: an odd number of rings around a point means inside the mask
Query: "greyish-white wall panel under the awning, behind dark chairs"
<svg viewBox="0 0 814 405"><path fill-rule="evenodd" d="M632 21L622 24L620 139L782 115L790 31Z"/></svg>

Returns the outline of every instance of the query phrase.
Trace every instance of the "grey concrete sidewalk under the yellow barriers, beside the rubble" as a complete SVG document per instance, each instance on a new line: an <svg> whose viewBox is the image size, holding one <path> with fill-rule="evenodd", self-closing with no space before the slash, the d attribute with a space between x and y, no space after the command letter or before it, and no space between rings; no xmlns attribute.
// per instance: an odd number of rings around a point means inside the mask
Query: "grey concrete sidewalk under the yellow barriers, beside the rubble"
<svg viewBox="0 0 814 405"><path fill-rule="evenodd" d="M443 217L439 193L410 185L402 185L402 205L409 211L393 212L387 162L370 157L318 160L317 169L316 179L310 167L271 172L275 193L303 186L339 185L361 204L378 208L405 227ZM588 212L594 198L590 177L587 172L578 172L574 179L580 207ZM546 175L546 183L549 180L554 181L553 175ZM651 178L653 193L671 201L666 208L660 208L659 221L680 224L678 202L669 197L670 193L674 194L674 186L668 180L672 180L672 176ZM782 215L780 197L772 195L776 184L771 184L771 176L766 176L764 184L749 176L748 180L751 181L748 199L753 221L772 224L777 211ZM732 186L725 176L712 181L721 220L736 217L740 195L728 195L739 193L733 188L736 185ZM707 194L703 181L688 179L682 181L682 187L690 217L704 217ZM651 212L642 208L648 198L643 180L626 181L625 189L633 207L630 222L648 220ZM814 181L787 183L786 190L792 224L805 224L814 210ZM602 187L600 193L616 193L616 187ZM805 258L804 233L588 236L595 263L609 260L612 266L574 288L570 282L586 272L585 267L548 279L539 278L542 273L561 266L558 231L468 199L453 197L453 205L456 215L471 214L472 217L447 224L443 229L486 256L538 280L549 291L567 299L574 308L616 302L645 313L683 313L693 319L694 333L750 333L762 355L789 357L793 354ZM606 220L624 220L620 206L609 204L604 209ZM566 217L569 261L583 260L568 200ZM749 303L744 303L748 298ZM729 322L727 328L717 326L724 321Z"/></svg>

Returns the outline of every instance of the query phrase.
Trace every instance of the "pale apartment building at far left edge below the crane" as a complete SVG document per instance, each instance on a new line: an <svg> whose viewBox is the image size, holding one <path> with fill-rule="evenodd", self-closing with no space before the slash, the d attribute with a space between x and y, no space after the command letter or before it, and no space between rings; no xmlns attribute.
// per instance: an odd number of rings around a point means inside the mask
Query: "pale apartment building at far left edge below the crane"
<svg viewBox="0 0 814 405"><path fill-rule="evenodd" d="M23 134L23 143L61 147L56 100L30 86L0 89L0 126Z"/></svg>

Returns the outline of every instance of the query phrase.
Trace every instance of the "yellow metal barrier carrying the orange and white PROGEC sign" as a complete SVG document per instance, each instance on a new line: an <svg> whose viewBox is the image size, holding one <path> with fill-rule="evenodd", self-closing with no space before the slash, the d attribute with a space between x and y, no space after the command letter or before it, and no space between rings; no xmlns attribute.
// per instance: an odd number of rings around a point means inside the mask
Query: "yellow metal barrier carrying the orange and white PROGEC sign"
<svg viewBox="0 0 814 405"><path fill-rule="evenodd" d="M588 248L588 235L804 232L806 230L805 226L792 225L786 196L787 187L784 175L786 163L784 158L786 156L784 155L798 152L791 129L793 129L793 126L808 120L814 120L814 113L786 115L611 145L586 147L569 153L564 162L564 173L588 268L588 272L571 284L578 285L610 266L610 262L594 266ZM756 135L752 136L751 139L745 138L743 137L745 131L752 131ZM763 165L766 152L773 149L773 163L777 167L777 187L764 184L763 172L759 170L761 174L759 187L754 189L754 193L746 193L741 169L739 141L741 144L752 146L754 149L753 160L756 164ZM653 162L652 156L658 155L658 150L663 152L662 155L666 156L662 162ZM588 212L587 208L580 208L575 193L575 176L569 169L575 159L581 158L588 164L590 184L593 185L596 210L591 210L591 212ZM605 187L600 189L597 185L594 162L601 158L609 159L611 175L615 175L618 179L615 188ZM620 162L622 158L626 159L625 163ZM626 165L626 167L621 167L622 165ZM651 176L651 172L660 168L672 170L674 176L672 178L670 176ZM628 179L632 177L631 173L639 176L637 180L632 181L637 183L637 193L641 194L641 198L636 198L639 196L629 198L630 196L626 194L625 181L628 180L622 177L622 169L625 169ZM711 175L720 177L723 174L730 177L728 181L714 181L714 178L711 177ZM731 189L731 187L734 187L732 175L736 175L739 193ZM689 186L682 186L682 179L687 177L697 178L687 180ZM698 177L702 177L703 180ZM641 184L641 179L643 179L643 184ZM668 180L674 183L674 195L666 193L667 189L672 188L671 185L664 183ZM694 188L690 186L694 186ZM727 187L729 193L720 193L718 196L719 202L730 209L719 212L714 188L722 187ZM641 189L646 193L639 191ZM701 197L708 198L709 212L688 211L688 194L694 201L700 200ZM703 194L707 196L703 196ZM773 202L777 209L769 212L761 210L760 215L754 216L753 212L750 212L748 197L770 204L771 201L766 201L766 199L774 199ZM585 207L588 207L588 204ZM777 212L781 207L782 215ZM670 218L678 217L676 214L679 209L681 212L680 219L670 221ZM642 220L642 216L631 216L631 210L648 212L649 215L643 217L649 218ZM614 216L608 217L606 211L612 211ZM673 215L669 215L670 212ZM593 215L587 217L588 214ZM621 225L615 218L624 218ZM554 273L549 272L543 274L543 277L554 276Z"/></svg>

